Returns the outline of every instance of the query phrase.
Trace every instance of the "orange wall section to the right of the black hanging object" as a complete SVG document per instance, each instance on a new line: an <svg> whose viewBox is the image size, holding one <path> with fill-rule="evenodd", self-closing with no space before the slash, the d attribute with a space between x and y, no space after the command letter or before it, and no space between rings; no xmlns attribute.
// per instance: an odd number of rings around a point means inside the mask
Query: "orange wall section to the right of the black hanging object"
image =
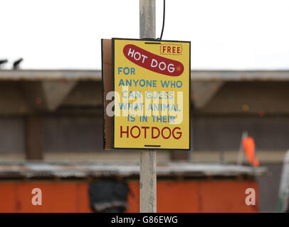
<svg viewBox="0 0 289 227"><path fill-rule="evenodd" d="M256 191L256 206L245 204L247 188ZM138 182L130 182L128 212L139 212ZM158 212L258 212L258 184L253 181L164 181L157 183Z"/></svg>

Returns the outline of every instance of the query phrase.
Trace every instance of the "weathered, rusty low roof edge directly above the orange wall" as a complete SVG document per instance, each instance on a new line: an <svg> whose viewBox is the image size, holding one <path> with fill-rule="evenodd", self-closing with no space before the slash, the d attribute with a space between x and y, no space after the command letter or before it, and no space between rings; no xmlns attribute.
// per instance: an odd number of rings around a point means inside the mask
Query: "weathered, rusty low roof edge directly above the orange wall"
<svg viewBox="0 0 289 227"><path fill-rule="evenodd" d="M238 177L266 175L265 167L191 162L157 166L158 177ZM0 178L138 177L140 165L132 162L0 162Z"/></svg>

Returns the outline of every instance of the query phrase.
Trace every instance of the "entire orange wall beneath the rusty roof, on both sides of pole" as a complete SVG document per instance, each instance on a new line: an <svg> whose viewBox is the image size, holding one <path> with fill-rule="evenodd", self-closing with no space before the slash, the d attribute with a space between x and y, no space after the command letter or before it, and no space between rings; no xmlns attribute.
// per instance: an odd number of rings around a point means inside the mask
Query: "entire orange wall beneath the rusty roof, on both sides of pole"
<svg viewBox="0 0 289 227"><path fill-rule="evenodd" d="M129 182L129 209L139 211L137 181ZM42 190L42 206L33 206L33 188ZM256 189L256 206L246 206L245 190ZM159 181L158 212L257 212L258 184L252 181ZM90 212L88 182L0 182L0 212Z"/></svg>

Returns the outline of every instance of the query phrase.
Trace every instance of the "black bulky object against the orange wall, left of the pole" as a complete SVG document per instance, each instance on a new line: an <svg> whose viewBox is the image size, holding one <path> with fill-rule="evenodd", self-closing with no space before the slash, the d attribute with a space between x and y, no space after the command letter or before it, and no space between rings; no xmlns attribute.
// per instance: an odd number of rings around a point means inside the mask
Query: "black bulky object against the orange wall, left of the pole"
<svg viewBox="0 0 289 227"><path fill-rule="evenodd" d="M128 192L126 182L113 180L90 182L90 208L97 213L125 212Z"/></svg>

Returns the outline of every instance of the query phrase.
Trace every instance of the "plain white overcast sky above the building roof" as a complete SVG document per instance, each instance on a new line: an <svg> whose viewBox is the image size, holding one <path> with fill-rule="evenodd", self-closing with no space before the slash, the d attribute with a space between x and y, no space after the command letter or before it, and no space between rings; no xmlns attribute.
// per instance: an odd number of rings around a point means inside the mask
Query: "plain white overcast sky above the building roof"
<svg viewBox="0 0 289 227"><path fill-rule="evenodd" d="M157 1L157 37L162 0ZM192 69L288 69L288 0L167 0L164 40ZM139 38L139 0L0 0L0 59L23 69L100 69L101 38Z"/></svg>

